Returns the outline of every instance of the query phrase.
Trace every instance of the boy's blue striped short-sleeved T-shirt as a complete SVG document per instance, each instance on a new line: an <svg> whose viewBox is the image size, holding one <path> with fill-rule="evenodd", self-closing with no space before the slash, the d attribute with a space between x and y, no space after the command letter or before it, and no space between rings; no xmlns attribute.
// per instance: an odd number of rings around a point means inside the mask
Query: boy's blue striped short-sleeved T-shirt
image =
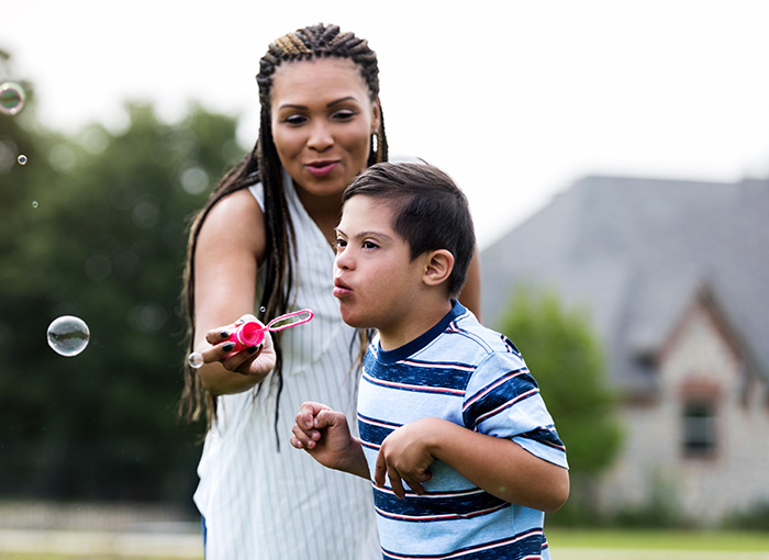
<svg viewBox="0 0 769 560"><path fill-rule="evenodd" d="M566 449L521 354L458 302L441 323L401 348L384 351L378 337L372 340L358 397L371 473L382 440L424 417L511 439L568 468ZM389 480L382 489L372 485L384 559L549 558L543 512L495 497L442 461L431 472L424 495L408 490L399 500Z"/></svg>

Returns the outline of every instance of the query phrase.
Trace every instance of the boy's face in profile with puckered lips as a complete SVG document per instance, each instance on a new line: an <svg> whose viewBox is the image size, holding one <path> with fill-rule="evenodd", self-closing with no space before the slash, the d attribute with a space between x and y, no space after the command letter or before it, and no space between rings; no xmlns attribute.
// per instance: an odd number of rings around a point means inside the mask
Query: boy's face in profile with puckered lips
<svg viewBox="0 0 769 560"><path fill-rule="evenodd" d="M336 228L334 295L342 320L357 328L399 332L419 312L424 262L411 260L406 242L392 229L393 213L378 199L356 195Z"/></svg>

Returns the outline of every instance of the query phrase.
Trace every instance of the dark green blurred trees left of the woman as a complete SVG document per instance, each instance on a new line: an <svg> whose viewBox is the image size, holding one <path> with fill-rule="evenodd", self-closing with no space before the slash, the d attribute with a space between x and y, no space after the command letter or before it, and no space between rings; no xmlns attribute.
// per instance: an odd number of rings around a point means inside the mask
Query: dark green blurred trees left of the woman
<svg viewBox="0 0 769 560"><path fill-rule="evenodd" d="M200 107L174 125L148 105L126 110L124 131L75 137L27 109L0 117L5 495L189 500L194 483L198 438L176 414L186 226L243 149L234 119ZM71 358L46 341L65 314L91 332Z"/></svg>

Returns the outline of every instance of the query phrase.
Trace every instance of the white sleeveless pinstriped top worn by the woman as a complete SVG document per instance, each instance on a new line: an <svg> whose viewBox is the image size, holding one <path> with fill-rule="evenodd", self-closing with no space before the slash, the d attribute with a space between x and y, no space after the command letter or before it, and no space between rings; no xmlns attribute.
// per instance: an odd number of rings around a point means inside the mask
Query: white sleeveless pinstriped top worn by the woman
<svg viewBox="0 0 769 560"><path fill-rule="evenodd" d="M334 250L286 173L283 184L298 245L296 309L315 315L283 332L279 451L274 395L255 399L249 391L219 397L219 419L205 438L194 494L205 519L205 558L381 558L368 482L326 469L289 444L304 401L328 404L354 418L358 376L350 373L355 331L342 322L333 295ZM264 208L261 186L252 192Z"/></svg>

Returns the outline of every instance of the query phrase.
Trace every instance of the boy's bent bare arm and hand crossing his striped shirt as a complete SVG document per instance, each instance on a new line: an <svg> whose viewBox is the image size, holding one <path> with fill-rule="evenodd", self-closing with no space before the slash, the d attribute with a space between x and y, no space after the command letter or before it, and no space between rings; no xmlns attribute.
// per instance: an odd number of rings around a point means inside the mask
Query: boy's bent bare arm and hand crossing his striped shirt
<svg viewBox="0 0 769 560"><path fill-rule="evenodd" d="M383 441L374 480L384 474L395 495L401 480L416 493L430 479L430 464L441 460L470 482L506 502L555 512L569 496L569 472L539 459L510 439L479 434L441 418L422 418L390 434Z"/></svg>

